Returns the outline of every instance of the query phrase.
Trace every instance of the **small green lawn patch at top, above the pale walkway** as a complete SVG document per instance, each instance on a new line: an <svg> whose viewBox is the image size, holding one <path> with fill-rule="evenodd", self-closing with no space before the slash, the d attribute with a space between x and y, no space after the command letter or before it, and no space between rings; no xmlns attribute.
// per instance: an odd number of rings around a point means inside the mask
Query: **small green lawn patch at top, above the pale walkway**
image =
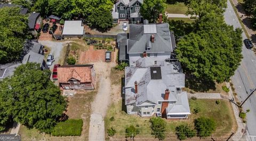
<svg viewBox="0 0 256 141"><path fill-rule="evenodd" d="M188 7L184 3L167 4L166 12L170 14L185 14Z"/></svg>

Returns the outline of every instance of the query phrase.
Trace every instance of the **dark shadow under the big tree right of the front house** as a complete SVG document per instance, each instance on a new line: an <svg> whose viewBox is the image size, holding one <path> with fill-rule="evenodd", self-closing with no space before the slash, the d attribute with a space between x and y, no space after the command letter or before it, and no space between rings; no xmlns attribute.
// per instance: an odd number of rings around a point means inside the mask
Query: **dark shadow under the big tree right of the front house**
<svg viewBox="0 0 256 141"><path fill-rule="evenodd" d="M197 78L189 74L186 74L185 86L196 92L216 90L215 83L213 81L203 80L202 78Z"/></svg>

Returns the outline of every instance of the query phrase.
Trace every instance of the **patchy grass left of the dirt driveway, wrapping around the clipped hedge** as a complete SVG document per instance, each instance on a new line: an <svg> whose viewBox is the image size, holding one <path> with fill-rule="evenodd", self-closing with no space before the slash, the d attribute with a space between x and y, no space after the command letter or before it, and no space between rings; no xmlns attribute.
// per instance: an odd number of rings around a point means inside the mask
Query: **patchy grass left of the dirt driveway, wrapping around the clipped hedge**
<svg viewBox="0 0 256 141"><path fill-rule="evenodd" d="M73 97L68 99L67 115L70 119L82 119L83 130L81 136L51 136L39 133L37 129L28 129L21 126L19 134L22 140L88 140L90 127L91 102L97 91L78 91Z"/></svg>

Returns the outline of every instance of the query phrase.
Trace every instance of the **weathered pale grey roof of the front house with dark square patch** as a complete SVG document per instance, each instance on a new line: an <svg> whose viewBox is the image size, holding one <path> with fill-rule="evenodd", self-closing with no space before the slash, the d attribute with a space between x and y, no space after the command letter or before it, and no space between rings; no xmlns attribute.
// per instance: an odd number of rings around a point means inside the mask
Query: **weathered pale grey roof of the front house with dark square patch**
<svg viewBox="0 0 256 141"><path fill-rule="evenodd" d="M170 90L169 101L178 101L176 87L185 87L185 74L181 71L180 63L160 63L164 65L151 65L145 66L147 61L153 61L149 57L140 58L136 61L136 67L125 68L125 104L136 103L140 105L143 102L150 101L155 104L158 101L164 100L164 93L166 89ZM140 66L142 65L142 67ZM157 79L152 78L152 68L157 74ZM138 82L138 93L135 92L134 82Z"/></svg>

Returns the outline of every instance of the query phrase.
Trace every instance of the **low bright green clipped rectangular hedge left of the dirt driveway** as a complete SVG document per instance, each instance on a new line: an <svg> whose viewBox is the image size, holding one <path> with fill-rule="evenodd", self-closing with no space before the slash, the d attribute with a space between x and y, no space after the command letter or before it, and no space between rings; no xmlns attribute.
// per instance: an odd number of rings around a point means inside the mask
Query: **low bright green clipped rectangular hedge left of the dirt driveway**
<svg viewBox="0 0 256 141"><path fill-rule="evenodd" d="M53 136L81 136L83 127L82 119L68 119L63 122L59 122L57 126L53 128Z"/></svg>

